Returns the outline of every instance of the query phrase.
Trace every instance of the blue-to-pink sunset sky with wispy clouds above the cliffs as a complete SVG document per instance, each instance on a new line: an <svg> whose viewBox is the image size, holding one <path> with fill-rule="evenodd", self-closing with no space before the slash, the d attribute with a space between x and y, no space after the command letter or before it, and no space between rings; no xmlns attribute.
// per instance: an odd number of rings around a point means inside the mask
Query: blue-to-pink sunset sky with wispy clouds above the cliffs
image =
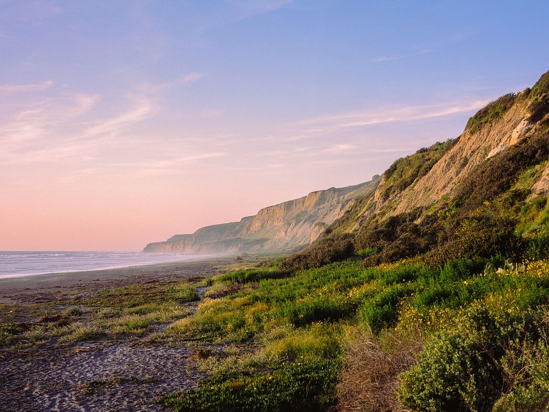
<svg viewBox="0 0 549 412"><path fill-rule="evenodd" d="M0 0L0 250L141 250L460 135L544 1Z"/></svg>

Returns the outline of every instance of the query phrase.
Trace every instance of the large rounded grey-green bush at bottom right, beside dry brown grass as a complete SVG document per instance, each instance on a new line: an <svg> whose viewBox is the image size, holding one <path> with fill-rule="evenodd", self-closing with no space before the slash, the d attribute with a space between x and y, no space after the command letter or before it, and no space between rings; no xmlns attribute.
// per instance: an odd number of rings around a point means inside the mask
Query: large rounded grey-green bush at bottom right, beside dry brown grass
<svg viewBox="0 0 549 412"><path fill-rule="evenodd" d="M541 336L533 313L473 307L455 330L436 335L402 375L400 399L413 410L490 411L512 389L512 376L523 373L524 359L517 356L522 345Z"/></svg>

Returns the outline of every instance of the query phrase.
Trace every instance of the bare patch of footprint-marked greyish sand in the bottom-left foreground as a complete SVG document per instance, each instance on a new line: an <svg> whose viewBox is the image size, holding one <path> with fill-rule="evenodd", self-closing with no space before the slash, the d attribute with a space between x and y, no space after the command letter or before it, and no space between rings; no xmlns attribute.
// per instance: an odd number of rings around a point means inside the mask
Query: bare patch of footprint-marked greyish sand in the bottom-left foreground
<svg viewBox="0 0 549 412"><path fill-rule="evenodd" d="M54 352L34 361L0 363L0 408L6 411L156 411L159 394L196 386L204 377L188 374L188 347L130 346L69 353ZM121 377L120 383L90 387L86 382ZM133 378L133 380L132 380ZM146 378L146 379L145 379ZM141 380L141 381L140 381Z"/></svg>

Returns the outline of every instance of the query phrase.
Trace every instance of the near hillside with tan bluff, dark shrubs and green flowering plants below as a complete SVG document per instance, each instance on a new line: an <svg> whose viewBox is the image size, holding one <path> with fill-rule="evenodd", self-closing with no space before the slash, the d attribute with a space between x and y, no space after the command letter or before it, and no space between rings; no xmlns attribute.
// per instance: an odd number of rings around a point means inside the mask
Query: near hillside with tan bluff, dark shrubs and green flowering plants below
<svg viewBox="0 0 549 412"><path fill-rule="evenodd" d="M455 140L396 160L302 252L216 277L165 338L227 349L161 403L547 410L548 102L546 73Z"/></svg>

